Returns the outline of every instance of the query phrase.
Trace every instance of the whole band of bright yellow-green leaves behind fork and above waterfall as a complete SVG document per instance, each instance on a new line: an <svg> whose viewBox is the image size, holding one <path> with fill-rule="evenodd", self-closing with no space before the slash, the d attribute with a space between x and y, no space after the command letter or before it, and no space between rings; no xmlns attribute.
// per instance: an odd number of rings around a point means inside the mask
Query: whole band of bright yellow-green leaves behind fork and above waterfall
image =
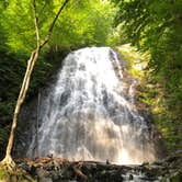
<svg viewBox="0 0 182 182"><path fill-rule="evenodd" d="M37 18L41 37L47 29L62 0L37 0ZM113 19L116 9L100 0L70 0L54 29L49 46L82 47L107 45L113 38ZM29 53L35 47L35 29L32 0L11 0L3 11L3 29L7 45L13 52Z"/></svg>

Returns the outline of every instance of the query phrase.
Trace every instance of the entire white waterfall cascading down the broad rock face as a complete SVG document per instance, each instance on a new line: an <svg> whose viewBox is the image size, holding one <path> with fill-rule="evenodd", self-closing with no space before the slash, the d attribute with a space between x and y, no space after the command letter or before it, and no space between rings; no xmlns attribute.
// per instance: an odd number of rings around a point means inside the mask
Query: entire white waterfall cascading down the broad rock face
<svg viewBox="0 0 182 182"><path fill-rule="evenodd" d="M153 161L148 121L135 106L135 80L126 86L122 70L110 47L70 53L42 101L38 136L27 157L53 155L117 164Z"/></svg>

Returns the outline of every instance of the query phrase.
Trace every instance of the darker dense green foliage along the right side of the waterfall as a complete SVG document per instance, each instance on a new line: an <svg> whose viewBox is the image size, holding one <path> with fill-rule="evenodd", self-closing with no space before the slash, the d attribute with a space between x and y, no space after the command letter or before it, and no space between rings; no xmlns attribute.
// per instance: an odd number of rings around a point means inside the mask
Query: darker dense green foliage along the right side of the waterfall
<svg viewBox="0 0 182 182"><path fill-rule="evenodd" d="M115 23L120 24L125 42L150 56L143 88L146 82L150 87L144 89L143 101L151 106L169 148L181 148L182 1L113 1L120 7Z"/></svg>

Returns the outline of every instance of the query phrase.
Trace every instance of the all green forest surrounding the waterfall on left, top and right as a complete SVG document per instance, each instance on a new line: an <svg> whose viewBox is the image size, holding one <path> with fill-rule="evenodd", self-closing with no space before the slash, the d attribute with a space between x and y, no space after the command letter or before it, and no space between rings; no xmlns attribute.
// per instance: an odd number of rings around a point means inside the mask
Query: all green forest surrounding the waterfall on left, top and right
<svg viewBox="0 0 182 182"><path fill-rule="evenodd" d="M37 0L36 3L44 36L62 0ZM2 159L26 60L36 46L36 33L31 0L1 0L0 11ZM181 149L181 0L70 0L41 53L25 103L46 86L69 52L88 46L111 46L127 61L129 73L139 80L136 99L151 113L167 150ZM136 62L145 64L145 69L136 69Z"/></svg>

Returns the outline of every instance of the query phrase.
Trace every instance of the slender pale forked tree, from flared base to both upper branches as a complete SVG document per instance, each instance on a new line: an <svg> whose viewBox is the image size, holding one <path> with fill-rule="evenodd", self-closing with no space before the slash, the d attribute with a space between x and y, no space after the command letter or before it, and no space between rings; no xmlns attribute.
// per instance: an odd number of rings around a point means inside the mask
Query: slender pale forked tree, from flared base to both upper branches
<svg viewBox="0 0 182 182"><path fill-rule="evenodd" d="M42 44L41 44L41 39L39 39L38 18L36 16L36 3L35 3L35 0L32 1L33 2L33 15L34 15L34 23L35 23L35 32L36 32L36 38L37 38L37 47L36 47L35 50L32 52L31 57L27 60L26 71L25 71L25 75L24 75L23 83L22 83L22 87L21 87L21 90L20 90L20 93L19 93L15 110L14 110L13 122L12 122L9 143L8 143L7 151L5 151L5 158L1 161L2 164L15 166L15 163L12 160L11 152L12 152L12 148L13 148L14 134L15 134L15 129L16 129L16 125L18 125L19 113L20 113L21 106L24 102L24 99L25 99L25 95L26 95L26 92L27 92L27 89L29 89L29 86L30 86L32 71L34 69L34 66L35 66L35 62L38 58L41 49L49 41L53 29L54 29L54 25L55 25L58 16L59 16L59 14L61 13L64 8L68 3L68 1L69 0L65 0L62 5L58 10L55 19L53 20L52 24L49 25L49 29L47 31L47 35L46 35L46 37L45 37L45 39L43 41Z"/></svg>

